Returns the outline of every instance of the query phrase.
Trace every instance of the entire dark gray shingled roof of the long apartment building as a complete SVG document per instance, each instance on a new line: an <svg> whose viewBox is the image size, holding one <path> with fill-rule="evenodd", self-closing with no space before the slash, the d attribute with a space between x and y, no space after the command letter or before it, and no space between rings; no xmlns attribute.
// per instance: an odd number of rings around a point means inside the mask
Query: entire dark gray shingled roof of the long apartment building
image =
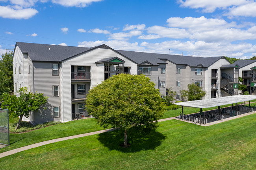
<svg viewBox="0 0 256 170"><path fill-rule="evenodd" d="M48 44L33 44L33 43L25 43L25 42L17 42L16 46L19 46L22 53L28 53L31 60L33 61L50 61L50 62L52 61L61 62L68 58L74 57L75 55L78 55L99 47L109 48L105 44L91 47L91 48L84 48L84 47L58 46L58 45L48 45ZM191 56L144 53L144 52L135 52L135 51L123 51L123 50L115 50L115 51L117 51L118 53L121 53L121 55L124 55L130 60L133 60L137 64L144 64L145 61L147 61L152 65L166 64L165 60L169 60L174 64L186 64L192 67L197 67L200 65L204 67L209 67L211 64L213 64L217 60L224 58L224 57L207 57L207 58L191 57ZM105 58L105 59L108 59L108 58Z"/></svg>

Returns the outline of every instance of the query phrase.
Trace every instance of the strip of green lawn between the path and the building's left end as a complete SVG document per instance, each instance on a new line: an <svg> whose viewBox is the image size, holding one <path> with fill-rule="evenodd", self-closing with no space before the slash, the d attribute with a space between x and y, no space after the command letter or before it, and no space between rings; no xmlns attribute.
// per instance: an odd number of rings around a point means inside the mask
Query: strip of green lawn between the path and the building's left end
<svg viewBox="0 0 256 170"><path fill-rule="evenodd" d="M0 153L29 144L57 139L60 137L95 132L103 129L104 128L97 125L95 119L82 119L78 121L55 124L26 133L10 133L10 145L1 148Z"/></svg>

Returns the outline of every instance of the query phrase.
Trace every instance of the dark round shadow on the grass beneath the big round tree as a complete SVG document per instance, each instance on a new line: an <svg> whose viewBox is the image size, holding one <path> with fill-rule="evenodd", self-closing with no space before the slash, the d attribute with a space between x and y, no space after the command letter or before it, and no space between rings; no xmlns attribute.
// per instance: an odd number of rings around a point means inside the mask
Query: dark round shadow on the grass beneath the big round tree
<svg viewBox="0 0 256 170"><path fill-rule="evenodd" d="M165 140L166 136L156 130L143 132L132 128L128 131L128 148L119 146L124 143L124 130L115 130L107 133L100 133L98 140L109 150L118 150L120 152L139 152L141 150L154 150Z"/></svg>

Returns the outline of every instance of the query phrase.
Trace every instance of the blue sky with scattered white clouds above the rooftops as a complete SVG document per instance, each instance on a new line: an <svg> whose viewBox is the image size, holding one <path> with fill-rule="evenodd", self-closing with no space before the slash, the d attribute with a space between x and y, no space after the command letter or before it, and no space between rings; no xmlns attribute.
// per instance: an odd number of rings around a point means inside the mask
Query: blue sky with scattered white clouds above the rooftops
<svg viewBox="0 0 256 170"><path fill-rule="evenodd" d="M31 42L256 56L255 0L0 0L0 54Z"/></svg>

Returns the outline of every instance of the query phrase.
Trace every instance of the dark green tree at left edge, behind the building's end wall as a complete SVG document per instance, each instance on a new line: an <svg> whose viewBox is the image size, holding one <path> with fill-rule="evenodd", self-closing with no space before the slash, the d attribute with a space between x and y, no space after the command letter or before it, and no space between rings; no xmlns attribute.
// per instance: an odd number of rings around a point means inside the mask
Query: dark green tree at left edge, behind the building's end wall
<svg viewBox="0 0 256 170"><path fill-rule="evenodd" d="M2 54L0 59L0 95L13 92L13 53Z"/></svg>

